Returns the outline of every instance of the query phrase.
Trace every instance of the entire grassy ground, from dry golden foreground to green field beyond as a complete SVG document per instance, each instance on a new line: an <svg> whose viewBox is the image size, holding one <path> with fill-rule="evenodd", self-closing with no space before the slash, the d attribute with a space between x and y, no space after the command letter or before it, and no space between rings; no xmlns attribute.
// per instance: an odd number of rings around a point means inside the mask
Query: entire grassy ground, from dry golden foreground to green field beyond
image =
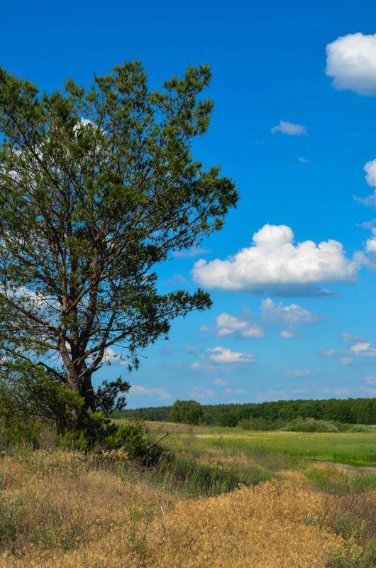
<svg viewBox="0 0 376 568"><path fill-rule="evenodd" d="M48 432L4 450L0 568L375 566L376 430L150 426L170 432L153 468Z"/></svg>

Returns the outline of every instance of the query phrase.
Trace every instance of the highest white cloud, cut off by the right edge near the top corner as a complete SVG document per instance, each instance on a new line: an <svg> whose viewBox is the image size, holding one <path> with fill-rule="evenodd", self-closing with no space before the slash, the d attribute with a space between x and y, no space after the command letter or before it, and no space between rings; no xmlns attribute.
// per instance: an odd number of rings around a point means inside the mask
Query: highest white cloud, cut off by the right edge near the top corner
<svg viewBox="0 0 376 568"><path fill-rule="evenodd" d="M326 75L336 89L376 94L376 34L349 33L328 43Z"/></svg>

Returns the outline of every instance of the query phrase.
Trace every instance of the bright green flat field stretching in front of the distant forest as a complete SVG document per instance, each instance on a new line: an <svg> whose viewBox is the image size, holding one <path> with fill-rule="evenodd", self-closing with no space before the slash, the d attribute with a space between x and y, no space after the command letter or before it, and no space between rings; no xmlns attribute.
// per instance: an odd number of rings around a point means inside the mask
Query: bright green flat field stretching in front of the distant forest
<svg viewBox="0 0 376 568"><path fill-rule="evenodd" d="M353 466L376 466L376 427L370 432L253 432L240 428L193 427L149 422L153 430L170 432L165 444L194 457L222 455L317 460ZM226 461L226 460L225 460Z"/></svg>

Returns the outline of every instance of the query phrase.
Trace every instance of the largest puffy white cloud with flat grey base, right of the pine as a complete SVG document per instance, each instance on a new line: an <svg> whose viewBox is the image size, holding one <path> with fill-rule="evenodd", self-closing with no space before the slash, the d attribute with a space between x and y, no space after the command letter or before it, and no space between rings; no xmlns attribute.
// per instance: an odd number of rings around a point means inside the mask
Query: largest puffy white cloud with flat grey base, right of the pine
<svg viewBox="0 0 376 568"><path fill-rule="evenodd" d="M352 259L343 245L333 239L294 244L294 233L286 225L264 225L253 235L253 244L234 256L194 264L194 280L206 288L250 290L280 295L326 294L320 283L352 282L363 253Z"/></svg>

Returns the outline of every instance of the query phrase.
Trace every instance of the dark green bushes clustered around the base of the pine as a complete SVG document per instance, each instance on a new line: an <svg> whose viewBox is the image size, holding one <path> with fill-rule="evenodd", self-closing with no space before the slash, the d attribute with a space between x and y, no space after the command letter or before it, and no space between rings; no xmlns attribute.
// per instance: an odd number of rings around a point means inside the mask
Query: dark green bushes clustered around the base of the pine
<svg viewBox="0 0 376 568"><path fill-rule="evenodd" d="M8 371L9 375L0 375L0 434L4 449L21 444L40 447L41 432L50 427L61 447L83 452L122 449L128 459L144 464L159 459L162 449L143 422L116 425L109 419L118 393L126 393L129 388L120 378L110 383L104 381L96 393L103 410L89 413L77 392L65 383L56 383L43 369L15 363ZM118 405L124 403L122 395Z"/></svg>

